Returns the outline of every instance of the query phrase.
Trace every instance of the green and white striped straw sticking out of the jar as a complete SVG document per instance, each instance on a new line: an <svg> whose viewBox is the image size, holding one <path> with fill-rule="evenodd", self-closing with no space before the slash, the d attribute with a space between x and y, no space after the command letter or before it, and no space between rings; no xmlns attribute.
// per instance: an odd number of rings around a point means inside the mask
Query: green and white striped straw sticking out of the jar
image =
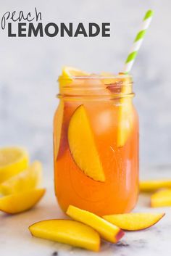
<svg viewBox="0 0 171 256"><path fill-rule="evenodd" d="M139 30L137 36L135 37L133 46L131 47L130 52L128 54L128 58L125 61L125 66L122 70L122 73L130 73L130 70L133 67L133 63L135 62L135 58L138 54L138 50L141 47L143 38L146 34L146 30L149 28L153 15L154 15L154 12L151 10L146 12L145 17L143 18L141 29Z"/></svg>

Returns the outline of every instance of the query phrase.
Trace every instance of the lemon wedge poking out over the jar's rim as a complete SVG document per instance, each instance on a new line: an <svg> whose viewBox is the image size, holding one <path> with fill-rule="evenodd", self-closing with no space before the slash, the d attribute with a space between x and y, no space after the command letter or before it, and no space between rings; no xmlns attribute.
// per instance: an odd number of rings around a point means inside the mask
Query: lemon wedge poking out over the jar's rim
<svg viewBox="0 0 171 256"><path fill-rule="evenodd" d="M63 67L62 68L62 76L59 77L60 86L65 86L66 84L70 84L73 81L73 76L87 76L88 73L83 70L78 70L75 67Z"/></svg>

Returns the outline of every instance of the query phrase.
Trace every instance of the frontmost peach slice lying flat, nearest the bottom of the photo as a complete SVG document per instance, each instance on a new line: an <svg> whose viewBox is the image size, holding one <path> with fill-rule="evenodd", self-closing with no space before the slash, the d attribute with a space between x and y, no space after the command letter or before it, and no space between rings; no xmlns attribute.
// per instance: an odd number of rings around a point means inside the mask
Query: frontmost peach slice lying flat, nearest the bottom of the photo
<svg viewBox="0 0 171 256"><path fill-rule="evenodd" d="M29 227L33 236L99 251L100 237L93 228L74 220L43 220Z"/></svg>

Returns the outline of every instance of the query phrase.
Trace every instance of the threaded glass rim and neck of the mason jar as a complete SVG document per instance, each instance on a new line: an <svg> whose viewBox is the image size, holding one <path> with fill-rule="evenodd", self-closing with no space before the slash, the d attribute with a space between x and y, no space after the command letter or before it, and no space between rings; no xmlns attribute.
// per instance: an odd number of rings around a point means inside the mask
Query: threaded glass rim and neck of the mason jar
<svg viewBox="0 0 171 256"><path fill-rule="evenodd" d="M91 83L92 81L92 83ZM133 80L130 74L113 76L105 75L77 75L59 76L59 94L61 96L84 97L118 97L133 95ZM85 86L86 82L86 86ZM124 88L124 89L122 89Z"/></svg>

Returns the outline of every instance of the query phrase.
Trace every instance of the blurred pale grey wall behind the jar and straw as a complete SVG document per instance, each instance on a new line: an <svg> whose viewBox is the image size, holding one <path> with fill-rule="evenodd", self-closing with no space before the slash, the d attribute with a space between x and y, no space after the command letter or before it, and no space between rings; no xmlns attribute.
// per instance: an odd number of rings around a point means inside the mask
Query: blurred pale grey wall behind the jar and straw
<svg viewBox="0 0 171 256"><path fill-rule="evenodd" d="M21 145L52 166L52 119L63 65L118 72L147 9L154 9L133 67L143 165L171 163L171 2L137 0L0 0L7 11L42 12L47 22L111 22L110 38L8 38L0 30L0 146ZM46 169L52 173L52 168Z"/></svg>

